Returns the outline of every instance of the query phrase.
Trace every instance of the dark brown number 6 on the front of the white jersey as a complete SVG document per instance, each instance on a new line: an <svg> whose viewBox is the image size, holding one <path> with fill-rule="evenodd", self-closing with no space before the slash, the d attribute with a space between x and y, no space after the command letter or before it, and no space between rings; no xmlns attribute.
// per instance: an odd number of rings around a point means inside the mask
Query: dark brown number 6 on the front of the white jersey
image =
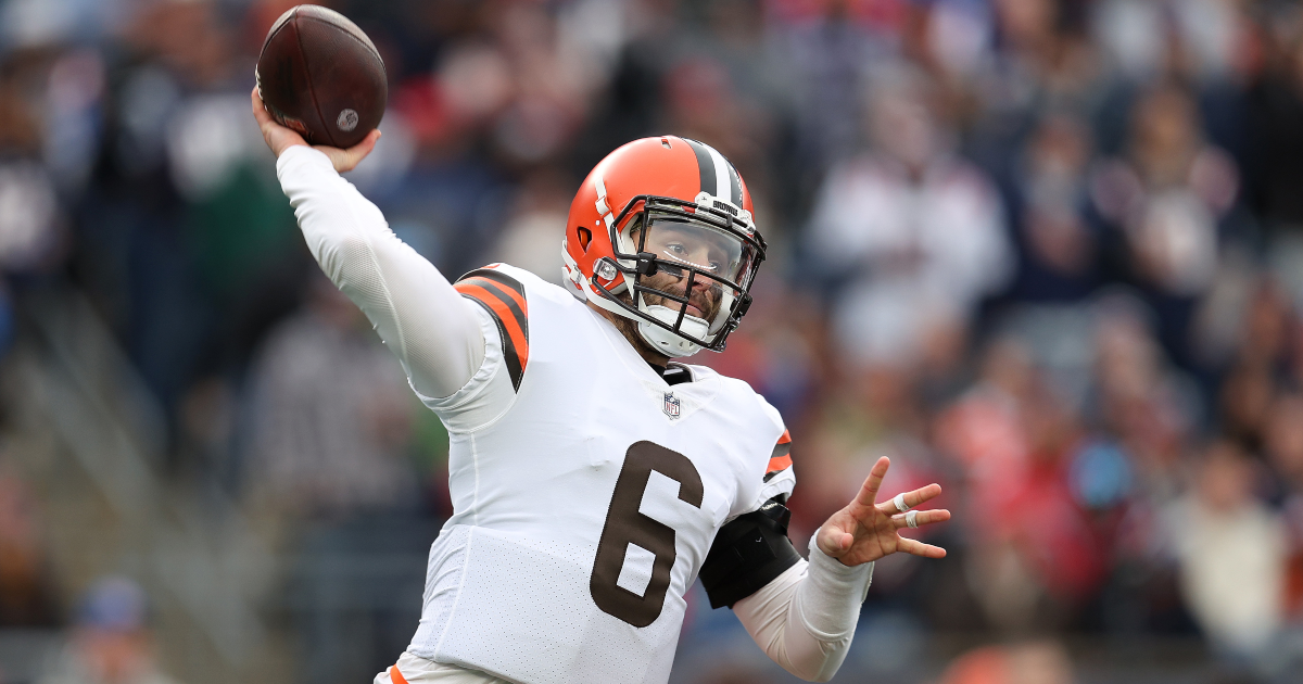
<svg viewBox="0 0 1303 684"><path fill-rule="evenodd" d="M674 529L638 512L652 470L676 481L679 499L701 508L701 474L687 456L650 442L629 447L620 477L615 481L615 494L611 495L602 539L597 543L597 560L593 562L588 588L598 608L633 627L646 627L661 616L665 591L670 588L670 568L676 556ZM652 581L641 597L616 584L631 543L655 555Z"/></svg>

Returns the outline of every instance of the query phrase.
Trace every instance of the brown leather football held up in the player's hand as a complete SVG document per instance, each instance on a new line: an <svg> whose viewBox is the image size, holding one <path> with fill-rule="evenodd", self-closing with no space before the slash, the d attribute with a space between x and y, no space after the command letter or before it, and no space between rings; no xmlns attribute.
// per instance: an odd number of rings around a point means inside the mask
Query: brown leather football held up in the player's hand
<svg viewBox="0 0 1303 684"><path fill-rule="evenodd" d="M352 147L384 116L388 81L380 53L332 9L298 5L281 14L254 73L271 116L310 145Z"/></svg>

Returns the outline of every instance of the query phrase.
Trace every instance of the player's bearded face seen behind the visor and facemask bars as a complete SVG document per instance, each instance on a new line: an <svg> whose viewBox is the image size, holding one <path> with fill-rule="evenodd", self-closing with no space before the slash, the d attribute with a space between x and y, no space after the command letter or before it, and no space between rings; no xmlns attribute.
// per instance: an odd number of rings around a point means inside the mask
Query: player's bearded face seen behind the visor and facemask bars
<svg viewBox="0 0 1303 684"><path fill-rule="evenodd" d="M641 237L638 228L635 228L632 237L637 244ZM638 284L681 297L688 287L688 271L666 262L692 266L701 274L736 283L745 266L747 250L736 237L701 224L653 218L642 251L654 254L661 264L655 275L641 276ZM713 322L723 302L724 287L727 285L711 278L698 275L693 279L688 315ZM674 311L680 309L679 302L658 294L644 293L644 300L649 305L666 306Z"/></svg>

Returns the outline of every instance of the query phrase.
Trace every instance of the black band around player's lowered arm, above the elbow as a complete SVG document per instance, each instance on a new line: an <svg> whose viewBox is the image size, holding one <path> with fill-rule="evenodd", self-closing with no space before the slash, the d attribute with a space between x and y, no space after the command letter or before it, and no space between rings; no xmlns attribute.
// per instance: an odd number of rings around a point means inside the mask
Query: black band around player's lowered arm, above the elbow
<svg viewBox="0 0 1303 684"><path fill-rule="evenodd" d="M711 608L731 608L801 559L787 538L791 517L792 512L774 498L719 528L701 565L701 585Z"/></svg>

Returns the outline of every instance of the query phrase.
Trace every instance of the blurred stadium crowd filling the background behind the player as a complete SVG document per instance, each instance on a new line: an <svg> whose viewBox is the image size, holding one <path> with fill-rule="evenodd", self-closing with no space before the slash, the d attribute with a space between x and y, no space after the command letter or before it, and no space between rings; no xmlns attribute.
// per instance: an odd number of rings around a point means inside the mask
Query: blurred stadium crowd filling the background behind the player
<svg viewBox="0 0 1303 684"><path fill-rule="evenodd" d="M364 683L447 435L321 276L249 113L284 0L0 0L0 683ZM771 245L727 352L805 539L890 455L835 681L1300 681L1303 7L337 0L351 180L455 278L558 280L592 165L719 149ZM784 683L700 589L672 681Z"/></svg>

